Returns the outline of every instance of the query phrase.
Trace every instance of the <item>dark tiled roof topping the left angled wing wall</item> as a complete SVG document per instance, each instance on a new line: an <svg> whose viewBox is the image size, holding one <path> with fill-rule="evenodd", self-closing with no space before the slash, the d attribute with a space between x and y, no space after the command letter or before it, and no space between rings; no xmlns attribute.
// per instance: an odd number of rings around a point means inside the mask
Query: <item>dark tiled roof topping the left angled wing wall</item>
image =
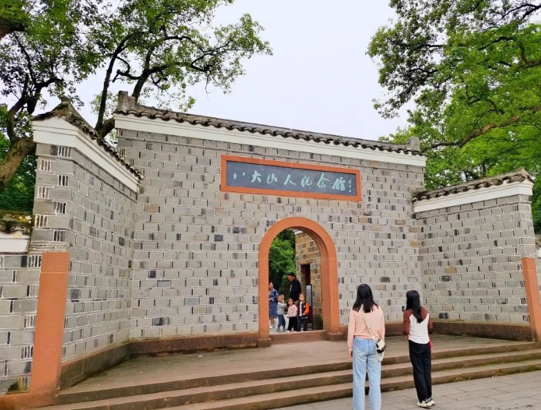
<svg viewBox="0 0 541 410"><path fill-rule="evenodd" d="M98 132L95 131L95 129L93 129L93 127L91 127L91 125L84 120L84 118L82 118L80 113L75 110L71 102L69 102L68 100L62 100L62 102L55 106L54 109L52 109L48 113L36 115L32 118L32 120L42 121L51 117L62 118L62 120L69 122L72 125L75 125L75 127L83 131L83 133L85 133L100 147L102 147L104 151L109 153L110 156L114 157L118 162L120 162L123 167L125 167L128 171L131 172L131 174L134 174L138 179L143 179L140 172L131 165L129 165L129 162L127 162L127 160L120 156L115 147L112 147L106 140L98 136Z"/></svg>

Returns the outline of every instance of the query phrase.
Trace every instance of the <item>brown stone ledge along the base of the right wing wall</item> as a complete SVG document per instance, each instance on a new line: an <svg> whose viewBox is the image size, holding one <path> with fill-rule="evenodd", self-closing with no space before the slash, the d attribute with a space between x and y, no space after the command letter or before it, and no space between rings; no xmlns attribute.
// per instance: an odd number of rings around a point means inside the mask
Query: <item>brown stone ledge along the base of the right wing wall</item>
<svg viewBox="0 0 541 410"><path fill-rule="evenodd" d="M529 324L434 320L434 333L439 333L440 335L489 337L491 339L522 340L528 342L533 340L531 326Z"/></svg>

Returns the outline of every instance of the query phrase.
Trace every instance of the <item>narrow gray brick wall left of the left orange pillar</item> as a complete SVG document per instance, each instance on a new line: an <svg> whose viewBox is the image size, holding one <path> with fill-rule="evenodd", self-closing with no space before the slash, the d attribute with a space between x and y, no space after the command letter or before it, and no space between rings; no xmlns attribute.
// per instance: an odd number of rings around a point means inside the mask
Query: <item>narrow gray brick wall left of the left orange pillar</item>
<svg viewBox="0 0 541 410"><path fill-rule="evenodd" d="M30 384L41 262L39 254L0 254L0 394Z"/></svg>

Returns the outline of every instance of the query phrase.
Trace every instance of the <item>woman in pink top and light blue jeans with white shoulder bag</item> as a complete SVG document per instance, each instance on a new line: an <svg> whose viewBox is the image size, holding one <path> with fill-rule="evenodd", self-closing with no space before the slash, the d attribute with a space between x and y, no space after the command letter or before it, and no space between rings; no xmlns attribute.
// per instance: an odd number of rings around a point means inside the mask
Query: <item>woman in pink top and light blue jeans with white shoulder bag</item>
<svg viewBox="0 0 541 410"><path fill-rule="evenodd" d="M385 339L383 310L374 301L370 286L362 284L357 288L357 299L349 312L347 348L353 360L353 409L365 410L365 380L368 371L370 409L381 410L381 362L376 358L376 343L372 333Z"/></svg>

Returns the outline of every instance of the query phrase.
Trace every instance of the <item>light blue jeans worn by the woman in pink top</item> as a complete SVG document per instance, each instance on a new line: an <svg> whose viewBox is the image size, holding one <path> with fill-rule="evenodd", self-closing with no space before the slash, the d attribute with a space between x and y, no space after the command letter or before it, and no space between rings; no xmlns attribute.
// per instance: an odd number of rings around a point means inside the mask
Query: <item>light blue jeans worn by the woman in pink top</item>
<svg viewBox="0 0 541 410"><path fill-rule="evenodd" d="M381 410L381 362L376 359L376 344L372 339L356 337L353 344L353 410L365 410L367 371L370 409Z"/></svg>

